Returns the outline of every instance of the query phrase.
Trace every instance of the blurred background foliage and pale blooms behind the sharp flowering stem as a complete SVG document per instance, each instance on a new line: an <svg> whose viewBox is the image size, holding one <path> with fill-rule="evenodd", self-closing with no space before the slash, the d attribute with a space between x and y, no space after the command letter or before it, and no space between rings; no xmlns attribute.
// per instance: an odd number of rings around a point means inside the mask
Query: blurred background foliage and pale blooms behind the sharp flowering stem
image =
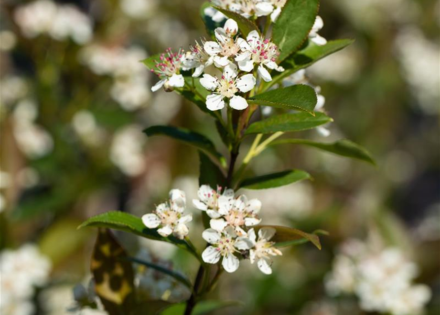
<svg viewBox="0 0 440 315"><path fill-rule="evenodd" d="M170 188L196 197L196 150L141 131L170 124L203 132L219 148L221 141L196 106L150 93L156 78L138 63L205 35L203 1L57 1L83 12L65 13L58 32L44 28L54 18L51 5L18 13L26 3L33 2L1 2L0 246L38 244L53 271L50 298L37 303L37 313L63 314L73 303L71 287L90 277L95 231L76 230L81 221L109 210L141 216ZM322 1L320 34L356 40L307 69L335 119L327 140L363 145L377 166L289 145L251 163L256 175L286 168L312 174L313 181L245 193L262 200L268 224L321 228L330 236L322 251L285 251L272 276L244 267L224 277L212 296L246 304L231 314L367 314L353 297L327 296L323 278L339 244L372 234L418 264L416 281L433 290L428 314L439 314L439 10L437 0ZM190 235L202 229L199 217ZM117 236L129 252L147 249L194 278L185 253Z"/></svg>

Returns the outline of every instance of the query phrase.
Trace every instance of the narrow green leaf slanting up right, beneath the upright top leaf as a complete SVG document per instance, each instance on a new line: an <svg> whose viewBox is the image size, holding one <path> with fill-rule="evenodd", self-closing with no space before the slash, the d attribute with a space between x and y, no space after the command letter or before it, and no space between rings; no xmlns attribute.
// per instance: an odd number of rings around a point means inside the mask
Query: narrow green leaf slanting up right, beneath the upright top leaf
<svg viewBox="0 0 440 315"><path fill-rule="evenodd" d="M345 48L354 42L354 39L337 39L329 40L327 44L319 46L314 42L309 41L308 45L297 51L295 54L289 56L281 66L285 69L283 72L277 72L277 74L272 76L272 81L269 83L268 87L273 86L282 79L292 75L298 70L304 69L318 60L338 52L339 50Z"/></svg>

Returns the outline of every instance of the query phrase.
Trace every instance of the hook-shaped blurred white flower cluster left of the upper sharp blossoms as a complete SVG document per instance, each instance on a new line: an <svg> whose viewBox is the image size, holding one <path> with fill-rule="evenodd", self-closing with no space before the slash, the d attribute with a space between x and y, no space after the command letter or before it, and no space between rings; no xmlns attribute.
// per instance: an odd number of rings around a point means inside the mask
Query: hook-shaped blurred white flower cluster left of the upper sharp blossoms
<svg viewBox="0 0 440 315"><path fill-rule="evenodd" d="M134 111L150 99L148 71L139 60L145 59L144 49L132 46L106 47L92 44L80 52L80 61L98 75L110 75L113 84L111 97L127 111Z"/></svg>

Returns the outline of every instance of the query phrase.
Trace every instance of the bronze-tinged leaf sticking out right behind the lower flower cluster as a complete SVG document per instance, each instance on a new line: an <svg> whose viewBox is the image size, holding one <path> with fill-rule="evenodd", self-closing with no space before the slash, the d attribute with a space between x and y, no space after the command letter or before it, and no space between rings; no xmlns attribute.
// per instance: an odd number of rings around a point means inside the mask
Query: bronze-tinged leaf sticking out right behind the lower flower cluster
<svg viewBox="0 0 440 315"><path fill-rule="evenodd" d="M321 250L321 242L316 234L328 235L328 233L323 230L316 230L310 234L296 228L279 225L257 225L255 230L258 231L263 227L271 227L276 230L275 236L273 236L271 239L272 242L275 242L275 247L287 247L311 242L314 246Z"/></svg>

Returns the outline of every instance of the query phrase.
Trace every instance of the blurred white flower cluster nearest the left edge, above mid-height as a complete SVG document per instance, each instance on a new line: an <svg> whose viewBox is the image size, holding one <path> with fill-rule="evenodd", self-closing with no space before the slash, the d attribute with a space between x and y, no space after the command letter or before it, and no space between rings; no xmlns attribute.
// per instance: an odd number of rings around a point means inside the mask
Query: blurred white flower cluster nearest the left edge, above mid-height
<svg viewBox="0 0 440 315"><path fill-rule="evenodd" d="M52 136L36 124L38 109L34 101L21 100L13 112L14 137L19 149L28 158L41 158L53 149Z"/></svg>

